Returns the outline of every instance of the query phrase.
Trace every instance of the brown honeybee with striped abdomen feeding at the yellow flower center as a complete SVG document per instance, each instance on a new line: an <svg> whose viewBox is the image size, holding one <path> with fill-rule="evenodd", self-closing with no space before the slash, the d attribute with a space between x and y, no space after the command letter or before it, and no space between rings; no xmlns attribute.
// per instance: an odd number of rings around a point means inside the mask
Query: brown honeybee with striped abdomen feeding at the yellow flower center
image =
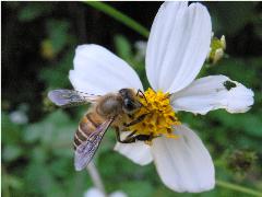
<svg viewBox="0 0 262 197"><path fill-rule="evenodd" d="M151 136L131 132L126 139L120 139L120 130L128 130L129 126L138 124L147 114L133 118L133 114L144 107L139 96L145 99L141 90L121 89L116 93L92 95L74 90L53 90L48 93L49 100L58 106L68 107L91 103L91 107L79 124L74 134L74 167L82 171L93 159L100 141L111 126L116 130L117 140L132 143L136 140L150 140ZM146 100L146 99L145 99Z"/></svg>

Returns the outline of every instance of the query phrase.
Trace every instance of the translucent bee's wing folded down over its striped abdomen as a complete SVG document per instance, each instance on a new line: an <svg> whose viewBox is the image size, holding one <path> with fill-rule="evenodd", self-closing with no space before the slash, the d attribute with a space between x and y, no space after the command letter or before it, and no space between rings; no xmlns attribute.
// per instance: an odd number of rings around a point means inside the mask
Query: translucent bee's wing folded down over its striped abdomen
<svg viewBox="0 0 262 197"><path fill-rule="evenodd" d="M115 118L111 118L99 125L97 129L90 135L86 141L76 148L74 152L74 167L76 171L82 171L91 162L106 130L114 120Z"/></svg>

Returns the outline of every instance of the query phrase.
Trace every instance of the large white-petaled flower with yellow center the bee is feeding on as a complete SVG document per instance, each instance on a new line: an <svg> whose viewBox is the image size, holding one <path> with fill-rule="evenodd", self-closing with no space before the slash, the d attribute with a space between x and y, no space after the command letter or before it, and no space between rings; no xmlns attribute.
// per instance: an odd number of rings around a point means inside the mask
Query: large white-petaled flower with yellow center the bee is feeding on
<svg viewBox="0 0 262 197"><path fill-rule="evenodd" d="M117 143L115 147L141 165L154 161L164 184L180 193L213 188L215 173L209 151L191 129L178 124L175 112L206 114L225 108L229 113L243 113L253 104L253 92L225 76L195 79L209 54L211 33L211 18L204 5L165 2L160 7L151 30L145 57L146 76L155 93L147 90L145 94L156 99L170 94L165 97L165 103L172 107L171 112L170 108L166 112L166 117L172 113L171 120L164 118L166 126L160 131L157 128L163 125L148 119L154 135L162 136L155 138L151 146L139 141ZM97 45L76 48L70 80L74 89L99 95L122 88L143 90L138 74L127 62ZM154 115L160 118L159 113ZM145 128L148 129L147 126ZM172 134L169 134L170 128Z"/></svg>

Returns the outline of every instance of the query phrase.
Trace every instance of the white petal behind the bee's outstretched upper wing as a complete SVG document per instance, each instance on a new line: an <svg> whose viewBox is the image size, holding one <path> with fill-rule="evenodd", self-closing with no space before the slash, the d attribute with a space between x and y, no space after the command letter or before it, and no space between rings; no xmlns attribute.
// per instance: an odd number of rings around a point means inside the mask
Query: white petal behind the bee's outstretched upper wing
<svg viewBox="0 0 262 197"><path fill-rule="evenodd" d="M143 90L134 70L102 46L79 46L73 62L69 79L78 91L103 95L122 88Z"/></svg>

